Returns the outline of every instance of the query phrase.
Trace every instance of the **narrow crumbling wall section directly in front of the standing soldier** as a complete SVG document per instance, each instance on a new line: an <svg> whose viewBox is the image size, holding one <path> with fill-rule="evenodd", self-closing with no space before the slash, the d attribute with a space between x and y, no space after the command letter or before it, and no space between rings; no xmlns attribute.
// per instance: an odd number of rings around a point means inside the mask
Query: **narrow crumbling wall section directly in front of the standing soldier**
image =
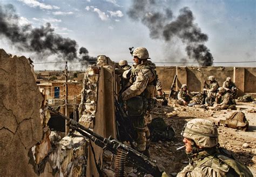
<svg viewBox="0 0 256 177"><path fill-rule="evenodd" d="M116 137L114 83L114 63L109 57L98 56L97 65L90 66L85 73L82 100L79 105L79 123L92 128L93 132L102 137ZM99 166L103 164L103 149L92 144L88 151L86 176L99 176L92 148Z"/></svg>

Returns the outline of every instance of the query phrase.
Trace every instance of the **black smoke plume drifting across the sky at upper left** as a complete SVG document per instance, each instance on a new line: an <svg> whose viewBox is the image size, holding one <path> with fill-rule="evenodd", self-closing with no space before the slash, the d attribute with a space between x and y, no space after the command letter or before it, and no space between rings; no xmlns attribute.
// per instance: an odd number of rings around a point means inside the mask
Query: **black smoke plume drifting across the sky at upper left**
<svg viewBox="0 0 256 177"><path fill-rule="evenodd" d="M17 49L36 52L41 56L42 54L43 56L57 55L60 60L80 60L77 56L76 40L58 35L50 23L46 23L41 28L32 28L31 24L19 26L19 20L20 17L16 15L12 4L3 6L0 4L0 35L8 38ZM84 57L81 60L89 61L91 57L88 53L87 51L87 58Z"/></svg>

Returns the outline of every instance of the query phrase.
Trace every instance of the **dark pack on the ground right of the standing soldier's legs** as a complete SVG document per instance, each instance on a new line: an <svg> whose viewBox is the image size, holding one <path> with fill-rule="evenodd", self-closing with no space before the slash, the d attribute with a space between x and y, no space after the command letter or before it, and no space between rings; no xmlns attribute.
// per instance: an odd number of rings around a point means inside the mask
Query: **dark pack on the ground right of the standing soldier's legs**
<svg viewBox="0 0 256 177"><path fill-rule="evenodd" d="M151 141L171 141L174 138L175 131L167 125L163 118L154 118L148 125Z"/></svg>

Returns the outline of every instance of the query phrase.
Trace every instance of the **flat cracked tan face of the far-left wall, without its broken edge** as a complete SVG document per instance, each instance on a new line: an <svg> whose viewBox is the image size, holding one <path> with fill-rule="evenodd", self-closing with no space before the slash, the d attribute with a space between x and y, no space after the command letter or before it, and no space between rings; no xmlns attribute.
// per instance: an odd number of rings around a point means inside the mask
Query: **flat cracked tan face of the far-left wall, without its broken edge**
<svg viewBox="0 0 256 177"><path fill-rule="evenodd" d="M35 176L29 151L43 137L43 97L23 56L0 49L0 76L0 176Z"/></svg>

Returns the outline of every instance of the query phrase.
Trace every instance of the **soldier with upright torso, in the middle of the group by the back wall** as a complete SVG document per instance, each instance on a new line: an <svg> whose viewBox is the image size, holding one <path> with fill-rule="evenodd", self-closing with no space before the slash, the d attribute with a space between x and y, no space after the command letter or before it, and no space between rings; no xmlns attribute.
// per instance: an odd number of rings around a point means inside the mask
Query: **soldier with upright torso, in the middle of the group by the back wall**
<svg viewBox="0 0 256 177"><path fill-rule="evenodd" d="M205 91L207 91L207 97L206 97L206 106L212 106L214 99L216 97L216 94L218 92L217 88L219 88L218 82L215 80L214 76L209 76L208 77L209 84L206 83L205 81L205 86L204 88Z"/></svg>

